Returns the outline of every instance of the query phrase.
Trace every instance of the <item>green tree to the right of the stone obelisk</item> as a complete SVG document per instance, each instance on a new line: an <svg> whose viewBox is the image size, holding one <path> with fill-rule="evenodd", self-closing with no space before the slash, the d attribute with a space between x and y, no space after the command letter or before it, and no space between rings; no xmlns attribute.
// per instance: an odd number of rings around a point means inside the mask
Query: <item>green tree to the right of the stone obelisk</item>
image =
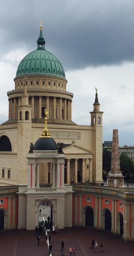
<svg viewBox="0 0 134 256"><path fill-rule="evenodd" d="M132 159L129 159L125 153L120 155L120 169L122 174L126 176L126 179L130 179L134 175L134 163Z"/></svg>

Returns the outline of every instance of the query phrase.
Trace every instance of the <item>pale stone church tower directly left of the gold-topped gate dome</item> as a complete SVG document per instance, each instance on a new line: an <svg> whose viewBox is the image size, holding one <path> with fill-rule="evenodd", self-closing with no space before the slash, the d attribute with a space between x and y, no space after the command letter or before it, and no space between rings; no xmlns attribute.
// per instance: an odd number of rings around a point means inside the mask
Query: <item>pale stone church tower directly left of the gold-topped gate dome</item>
<svg viewBox="0 0 134 256"><path fill-rule="evenodd" d="M27 184L27 159L29 144L32 141L31 132L31 109L28 103L26 78L24 78L24 89L18 104L18 184Z"/></svg>

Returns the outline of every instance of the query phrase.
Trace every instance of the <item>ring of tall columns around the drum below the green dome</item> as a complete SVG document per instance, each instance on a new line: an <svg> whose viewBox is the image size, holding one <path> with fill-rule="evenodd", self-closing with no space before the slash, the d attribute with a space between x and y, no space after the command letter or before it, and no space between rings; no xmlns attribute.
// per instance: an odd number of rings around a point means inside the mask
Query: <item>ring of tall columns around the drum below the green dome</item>
<svg viewBox="0 0 134 256"><path fill-rule="evenodd" d="M31 96L31 105L32 105L32 118L35 118L34 114L34 97ZM42 118L42 97L46 97L46 108L48 110L48 118L49 116L49 97L50 96L39 96L39 113L38 116L41 119ZM72 100L66 99L62 97L53 97L53 116L51 118L56 119L56 105L57 105L57 99L59 100L59 119L65 119L65 120L72 120ZM8 109L8 120L10 119L17 119L17 107L18 105L21 105L21 97L13 97L8 98L9 102L9 109ZM64 117L62 116L62 106L64 109ZM36 116L37 118L37 116Z"/></svg>

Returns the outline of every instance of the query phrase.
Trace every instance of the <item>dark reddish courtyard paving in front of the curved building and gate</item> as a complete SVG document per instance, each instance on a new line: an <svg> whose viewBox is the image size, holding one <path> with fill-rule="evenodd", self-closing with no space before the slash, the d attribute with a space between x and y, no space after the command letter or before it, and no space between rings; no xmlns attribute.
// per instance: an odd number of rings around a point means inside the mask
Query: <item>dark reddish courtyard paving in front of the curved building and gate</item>
<svg viewBox="0 0 134 256"><path fill-rule="evenodd" d="M64 240L65 256L69 256L69 247L76 247L76 256L132 256L134 242L125 242L120 236L106 231L91 228L66 228L51 235L52 256L61 255L61 241ZM100 250L100 241L103 241L104 251L96 252L91 249L91 240L94 238ZM34 231L11 230L0 232L0 256L49 256L45 245L45 234L37 245L37 236Z"/></svg>

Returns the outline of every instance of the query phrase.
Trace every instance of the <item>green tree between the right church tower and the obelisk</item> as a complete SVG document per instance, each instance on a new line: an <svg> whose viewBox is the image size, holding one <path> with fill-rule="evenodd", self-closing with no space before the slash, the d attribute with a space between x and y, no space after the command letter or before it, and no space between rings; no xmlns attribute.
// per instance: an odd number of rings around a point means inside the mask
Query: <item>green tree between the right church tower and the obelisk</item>
<svg viewBox="0 0 134 256"><path fill-rule="evenodd" d="M103 148L103 171L106 174L111 170L111 152L107 148Z"/></svg>

